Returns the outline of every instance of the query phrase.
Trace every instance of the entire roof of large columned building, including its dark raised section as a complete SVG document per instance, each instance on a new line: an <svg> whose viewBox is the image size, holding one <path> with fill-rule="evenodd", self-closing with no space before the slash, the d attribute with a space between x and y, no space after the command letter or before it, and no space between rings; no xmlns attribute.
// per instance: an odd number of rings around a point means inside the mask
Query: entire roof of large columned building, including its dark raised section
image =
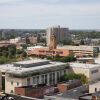
<svg viewBox="0 0 100 100"><path fill-rule="evenodd" d="M16 64L28 65L29 67L16 66ZM35 60L33 59L28 61L16 62L14 64L0 65L0 70L2 72L6 72L13 75L25 76L27 74L43 73L43 72L50 72L54 70L64 69L66 68L66 66L67 63L51 62L43 59L35 59Z"/></svg>

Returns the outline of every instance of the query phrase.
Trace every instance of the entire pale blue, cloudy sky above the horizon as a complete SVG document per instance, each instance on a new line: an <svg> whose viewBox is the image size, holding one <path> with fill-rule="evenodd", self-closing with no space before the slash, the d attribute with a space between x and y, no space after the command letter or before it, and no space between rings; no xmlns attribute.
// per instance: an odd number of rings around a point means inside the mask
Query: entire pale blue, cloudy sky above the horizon
<svg viewBox="0 0 100 100"><path fill-rule="evenodd" d="M100 29L100 0L0 0L0 29Z"/></svg>

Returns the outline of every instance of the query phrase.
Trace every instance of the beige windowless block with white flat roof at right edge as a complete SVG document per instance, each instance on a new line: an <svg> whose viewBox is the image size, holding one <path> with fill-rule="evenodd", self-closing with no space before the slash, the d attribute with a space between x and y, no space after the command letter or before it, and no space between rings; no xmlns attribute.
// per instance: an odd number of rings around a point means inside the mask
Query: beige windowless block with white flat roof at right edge
<svg viewBox="0 0 100 100"><path fill-rule="evenodd" d="M84 74L89 82L100 79L100 65L99 64L85 64L85 63L69 63L70 72L77 74Z"/></svg>

